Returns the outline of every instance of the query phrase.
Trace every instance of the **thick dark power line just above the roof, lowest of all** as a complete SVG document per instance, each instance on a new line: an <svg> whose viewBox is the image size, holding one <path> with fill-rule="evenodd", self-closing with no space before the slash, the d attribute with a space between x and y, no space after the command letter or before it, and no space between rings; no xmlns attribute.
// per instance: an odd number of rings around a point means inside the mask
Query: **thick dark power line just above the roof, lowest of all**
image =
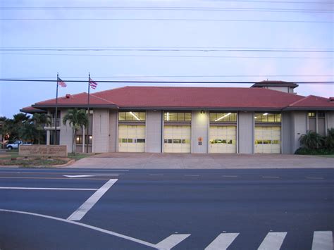
<svg viewBox="0 0 334 250"><path fill-rule="evenodd" d="M64 82L87 82L87 80L64 80ZM0 79L1 82L57 82L57 80L31 80L31 79ZM111 80L111 81L104 81L104 80L94 80L94 82L106 82L106 83L186 83L186 84L254 84L254 82L231 82L231 81L129 81L129 80ZM334 82L328 81L316 81L316 82L295 82L296 84L304 84L304 85L333 85Z"/></svg>

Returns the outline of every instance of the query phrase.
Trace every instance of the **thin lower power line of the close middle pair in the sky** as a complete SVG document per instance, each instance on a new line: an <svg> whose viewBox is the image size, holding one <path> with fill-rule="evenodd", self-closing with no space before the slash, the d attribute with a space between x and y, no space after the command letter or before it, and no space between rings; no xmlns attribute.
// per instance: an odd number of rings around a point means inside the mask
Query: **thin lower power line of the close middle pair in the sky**
<svg viewBox="0 0 334 250"><path fill-rule="evenodd" d="M171 56L171 55L119 55L119 54L32 54L32 53L0 53L0 55L19 56L114 56L114 57L160 57L160 58L281 58L281 59L333 59L333 57L309 56Z"/></svg>

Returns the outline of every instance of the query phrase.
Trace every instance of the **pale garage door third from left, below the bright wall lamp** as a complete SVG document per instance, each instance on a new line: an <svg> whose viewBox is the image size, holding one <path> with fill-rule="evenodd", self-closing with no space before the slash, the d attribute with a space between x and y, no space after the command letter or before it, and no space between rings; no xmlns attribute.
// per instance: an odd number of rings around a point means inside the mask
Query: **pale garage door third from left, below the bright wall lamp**
<svg viewBox="0 0 334 250"><path fill-rule="evenodd" d="M237 153L235 126L210 126L209 153Z"/></svg>

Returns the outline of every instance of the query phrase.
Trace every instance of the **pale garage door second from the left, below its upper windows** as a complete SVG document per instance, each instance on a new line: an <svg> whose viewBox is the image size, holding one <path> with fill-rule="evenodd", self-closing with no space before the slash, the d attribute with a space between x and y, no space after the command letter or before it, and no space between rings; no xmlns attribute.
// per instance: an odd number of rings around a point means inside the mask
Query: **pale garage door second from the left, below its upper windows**
<svg viewBox="0 0 334 250"><path fill-rule="evenodd" d="M165 153L190 153L190 126L165 126L163 129Z"/></svg>

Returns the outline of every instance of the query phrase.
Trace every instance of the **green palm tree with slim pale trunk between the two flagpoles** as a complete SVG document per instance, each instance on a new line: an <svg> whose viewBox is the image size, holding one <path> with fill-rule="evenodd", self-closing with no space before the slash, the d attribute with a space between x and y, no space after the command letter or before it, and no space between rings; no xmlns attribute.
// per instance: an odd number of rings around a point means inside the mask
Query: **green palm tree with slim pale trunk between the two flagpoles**
<svg viewBox="0 0 334 250"><path fill-rule="evenodd" d="M63 125L66 125L66 123L69 123L69 125L72 127L73 130L73 137L72 137L72 152L76 153L76 143L75 143L75 135L77 134L78 129L83 126L87 127L88 125L88 118L85 109L78 109L73 108L69 109L68 113L63 117Z"/></svg>

